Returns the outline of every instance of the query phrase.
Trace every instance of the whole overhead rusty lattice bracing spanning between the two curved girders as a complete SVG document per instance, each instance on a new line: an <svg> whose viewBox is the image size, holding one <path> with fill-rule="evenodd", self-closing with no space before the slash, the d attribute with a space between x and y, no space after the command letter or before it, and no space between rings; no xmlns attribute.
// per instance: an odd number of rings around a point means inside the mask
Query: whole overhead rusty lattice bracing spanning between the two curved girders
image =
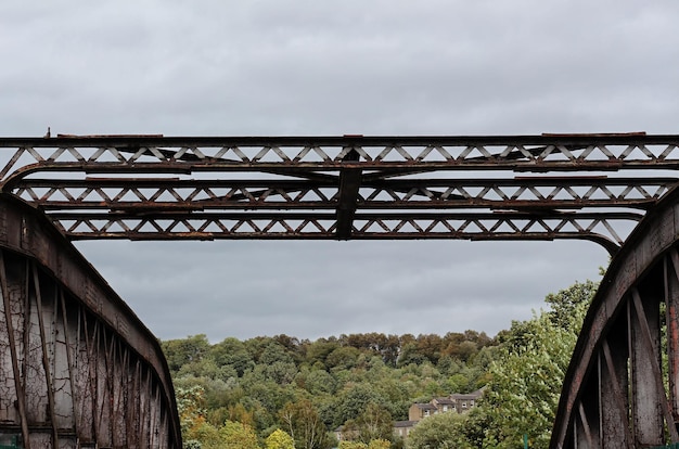
<svg viewBox="0 0 679 449"><path fill-rule="evenodd" d="M73 240L588 239L614 253L676 184L678 145L643 133L5 138L0 178Z"/></svg>

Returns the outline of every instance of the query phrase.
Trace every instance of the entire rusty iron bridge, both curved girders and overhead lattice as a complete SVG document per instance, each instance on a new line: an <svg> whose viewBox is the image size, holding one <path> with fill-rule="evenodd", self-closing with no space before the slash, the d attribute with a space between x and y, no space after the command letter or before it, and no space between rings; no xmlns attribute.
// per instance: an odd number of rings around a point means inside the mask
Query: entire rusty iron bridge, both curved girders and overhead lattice
<svg viewBox="0 0 679 449"><path fill-rule="evenodd" d="M87 239L584 239L614 256L553 448L679 442L679 136L0 138L0 435L181 447Z"/></svg>

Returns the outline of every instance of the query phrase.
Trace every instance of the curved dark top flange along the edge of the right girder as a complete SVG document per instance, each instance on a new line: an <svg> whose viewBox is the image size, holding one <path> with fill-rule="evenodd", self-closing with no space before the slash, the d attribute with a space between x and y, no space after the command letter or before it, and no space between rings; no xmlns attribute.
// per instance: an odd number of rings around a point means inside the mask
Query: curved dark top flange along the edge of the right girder
<svg viewBox="0 0 679 449"><path fill-rule="evenodd" d="M592 369L593 357L624 298L656 261L679 240L679 188L672 189L651 208L615 254L585 317L564 379L554 419L550 448L564 444L580 387Z"/></svg>

